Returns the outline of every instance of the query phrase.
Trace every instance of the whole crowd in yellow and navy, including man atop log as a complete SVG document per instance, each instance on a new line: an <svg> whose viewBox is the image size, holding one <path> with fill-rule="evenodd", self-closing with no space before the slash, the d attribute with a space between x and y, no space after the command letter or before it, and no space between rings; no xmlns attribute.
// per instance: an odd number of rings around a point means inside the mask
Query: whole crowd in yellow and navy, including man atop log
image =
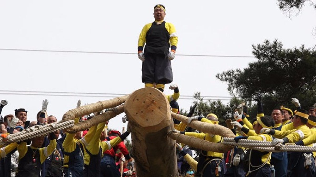
<svg viewBox="0 0 316 177"><path fill-rule="evenodd" d="M161 92L165 84L172 83L171 60L175 58L178 36L173 24L165 22L166 8L157 4L154 7L155 21L146 24L138 40L138 58L142 60L142 82L145 87L155 87ZM144 46L146 43L146 46ZM169 48L171 51L169 52ZM144 49L144 53L143 53ZM173 94L166 95L171 111L179 113L179 88L171 84ZM302 109L299 100L293 98L296 110L286 107L272 110L271 116L265 115L260 96L257 117L250 118L245 104L236 105L234 117L226 121L227 127L241 139L269 141L272 145L291 143L296 146L313 146L316 143L316 104ZM0 102L0 136L3 141L8 134L25 131L41 125L53 124L58 120L47 115L48 101L43 100L42 109L37 114L37 121L27 121L27 110L14 110L14 114L1 116L8 101ZM81 106L81 101L77 107ZM205 124L218 124L217 115L210 112L207 116L193 116L196 105L191 106L186 115L188 122L173 119L174 129L169 133L185 134L221 143L220 135L193 131L187 127L192 121ZM94 113L95 115L100 112ZM86 117L93 119L94 116ZM75 118L75 123L85 121L84 117ZM252 121L249 121L252 120ZM123 122L128 117L122 118ZM40 135L31 140L13 142L0 146L1 177L119 177L137 176L134 160L127 150L124 140L130 134L117 130L107 131L107 122L76 133L56 131L47 136ZM196 150L198 159L193 158L193 151L176 142L177 168L184 177L312 177L315 173L316 152L269 152L245 149L235 146L232 150L221 153ZM117 153L120 150L120 153ZM159 176L159 175L158 175Z"/></svg>

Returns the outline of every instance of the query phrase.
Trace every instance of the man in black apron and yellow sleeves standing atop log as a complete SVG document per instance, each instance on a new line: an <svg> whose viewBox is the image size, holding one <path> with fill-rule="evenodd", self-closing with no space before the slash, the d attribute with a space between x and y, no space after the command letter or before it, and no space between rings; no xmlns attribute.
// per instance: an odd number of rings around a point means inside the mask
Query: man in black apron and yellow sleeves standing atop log
<svg viewBox="0 0 316 177"><path fill-rule="evenodd" d="M165 6L155 5L155 21L143 27L137 48L138 58L143 61L142 82L145 83L145 87L154 87L156 83L155 88L162 92L165 84L173 80L171 60L174 59L178 44L176 30L173 24L164 21L165 15Z"/></svg>

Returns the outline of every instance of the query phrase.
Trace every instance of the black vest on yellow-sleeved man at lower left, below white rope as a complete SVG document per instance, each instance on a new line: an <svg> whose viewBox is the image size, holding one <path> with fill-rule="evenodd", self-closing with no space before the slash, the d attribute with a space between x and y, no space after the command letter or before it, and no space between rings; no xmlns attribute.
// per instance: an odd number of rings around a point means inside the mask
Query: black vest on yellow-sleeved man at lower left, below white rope
<svg viewBox="0 0 316 177"><path fill-rule="evenodd" d="M35 152L35 153L34 153ZM34 159L33 159L34 154ZM19 161L18 173L15 177L38 177L40 175L40 169L42 163L40 162L40 151L32 149L30 146L27 147L27 152L23 158Z"/></svg>

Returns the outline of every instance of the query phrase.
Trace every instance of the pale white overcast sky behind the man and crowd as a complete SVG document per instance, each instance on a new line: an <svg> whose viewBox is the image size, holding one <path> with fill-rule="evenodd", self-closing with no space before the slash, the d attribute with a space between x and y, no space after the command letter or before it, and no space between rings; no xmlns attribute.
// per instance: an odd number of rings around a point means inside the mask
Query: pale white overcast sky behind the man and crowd
<svg viewBox="0 0 316 177"><path fill-rule="evenodd" d="M111 98L100 94L76 96L7 91L128 94L143 87L142 62L137 57L138 36L154 20L153 7L166 7L165 21L176 27L179 43L172 61L173 83L181 95L200 91L204 96L230 96L227 84L216 73L247 67L255 58L201 57L189 55L252 56L252 44L279 39L284 47L313 47L316 10L303 7L289 18L276 0L244 1L0 1L0 49L117 52L135 54L73 53L0 50L0 100L8 100L2 115L14 109L28 110L36 120L42 100L48 99L48 114L58 120L82 103ZM165 94L173 91L167 89ZM47 93L40 93L47 94ZM70 95L70 94L67 94ZM88 97L93 96L93 97ZM181 97L180 98L188 98ZM225 98L224 98L225 99ZM227 98L226 98L227 99ZM193 100L179 100L189 109ZM124 114L123 114L124 115ZM109 127L126 126L121 117Z"/></svg>

